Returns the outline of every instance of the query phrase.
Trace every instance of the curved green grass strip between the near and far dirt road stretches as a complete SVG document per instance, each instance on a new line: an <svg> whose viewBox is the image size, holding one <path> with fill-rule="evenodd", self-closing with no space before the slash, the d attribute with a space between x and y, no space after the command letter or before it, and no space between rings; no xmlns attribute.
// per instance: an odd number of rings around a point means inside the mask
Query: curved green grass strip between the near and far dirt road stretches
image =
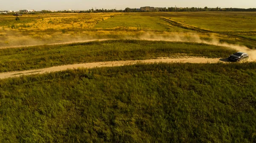
<svg viewBox="0 0 256 143"><path fill-rule="evenodd" d="M69 45L0 49L0 72L64 64L142 60L161 56L224 58L235 50L202 43L146 40L108 40Z"/></svg>

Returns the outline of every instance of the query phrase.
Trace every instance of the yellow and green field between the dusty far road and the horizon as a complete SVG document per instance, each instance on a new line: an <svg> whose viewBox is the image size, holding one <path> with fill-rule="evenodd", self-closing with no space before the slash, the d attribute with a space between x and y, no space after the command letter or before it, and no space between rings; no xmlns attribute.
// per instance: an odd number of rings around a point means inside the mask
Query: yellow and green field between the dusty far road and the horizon
<svg viewBox="0 0 256 143"><path fill-rule="evenodd" d="M25 14L19 21L14 16L0 15L0 47L141 38L148 34L157 37L197 34L201 39L214 38L256 48L255 15L255 12ZM180 24L173 25L161 17ZM184 28L183 25L198 29Z"/></svg>

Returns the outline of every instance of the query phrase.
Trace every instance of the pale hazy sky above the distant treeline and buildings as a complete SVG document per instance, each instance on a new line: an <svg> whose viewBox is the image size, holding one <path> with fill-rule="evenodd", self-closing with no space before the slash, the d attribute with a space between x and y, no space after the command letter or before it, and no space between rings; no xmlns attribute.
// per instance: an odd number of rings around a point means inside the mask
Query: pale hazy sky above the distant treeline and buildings
<svg viewBox="0 0 256 143"><path fill-rule="evenodd" d="M0 0L0 10L89 10L152 7L256 8L256 0Z"/></svg>

